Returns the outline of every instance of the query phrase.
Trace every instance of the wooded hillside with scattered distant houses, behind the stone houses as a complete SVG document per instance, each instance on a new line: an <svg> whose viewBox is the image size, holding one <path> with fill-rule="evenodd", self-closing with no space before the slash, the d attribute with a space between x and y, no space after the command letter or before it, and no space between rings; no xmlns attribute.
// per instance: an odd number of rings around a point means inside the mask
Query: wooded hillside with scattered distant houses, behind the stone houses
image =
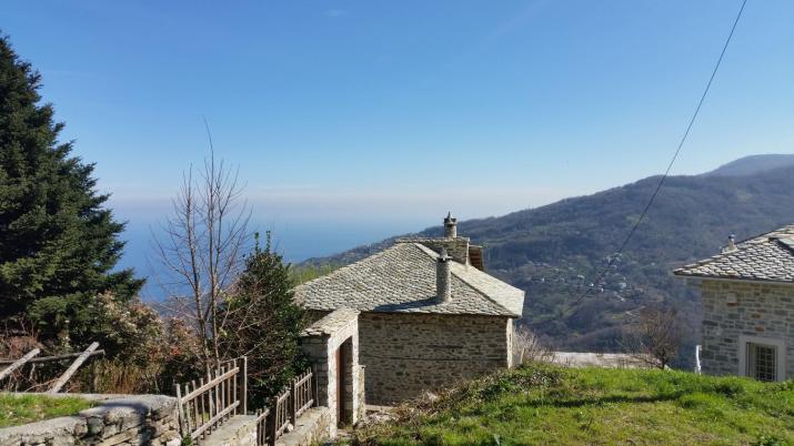
<svg viewBox="0 0 794 446"><path fill-rule="evenodd" d="M669 178L624 255L603 283L593 283L657 182L652 176L537 209L464 221L459 234L486 246L490 273L526 291L524 322L557 348L617 351L627 312L666 301L680 308L691 328L680 362L689 365L700 318L697 295L670 271L715 254L728 234L742 240L794 222L794 166L741 176ZM441 227L420 234L440 235ZM350 263L391 242L310 263ZM592 288L587 298L555 318L585 288Z"/></svg>

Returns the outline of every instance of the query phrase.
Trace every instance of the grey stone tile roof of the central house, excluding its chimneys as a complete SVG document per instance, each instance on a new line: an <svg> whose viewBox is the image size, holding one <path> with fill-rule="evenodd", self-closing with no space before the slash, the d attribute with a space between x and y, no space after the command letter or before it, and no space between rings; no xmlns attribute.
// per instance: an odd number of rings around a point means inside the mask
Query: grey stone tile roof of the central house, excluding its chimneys
<svg viewBox="0 0 794 446"><path fill-rule="evenodd" d="M439 255L420 243L398 243L295 287L310 310L341 307L384 313L479 314L521 317L524 292L451 261L452 300L435 302Z"/></svg>

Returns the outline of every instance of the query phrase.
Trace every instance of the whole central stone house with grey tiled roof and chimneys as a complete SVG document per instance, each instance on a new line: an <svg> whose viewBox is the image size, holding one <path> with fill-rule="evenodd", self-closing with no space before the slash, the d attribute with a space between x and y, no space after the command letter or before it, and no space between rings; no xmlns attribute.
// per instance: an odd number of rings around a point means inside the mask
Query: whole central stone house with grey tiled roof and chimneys
<svg viewBox="0 0 794 446"><path fill-rule="evenodd" d="M482 247L448 215L443 237L399 240L297 287L295 298L316 317L361 312L366 403L389 405L512 365L524 292L482 270Z"/></svg>

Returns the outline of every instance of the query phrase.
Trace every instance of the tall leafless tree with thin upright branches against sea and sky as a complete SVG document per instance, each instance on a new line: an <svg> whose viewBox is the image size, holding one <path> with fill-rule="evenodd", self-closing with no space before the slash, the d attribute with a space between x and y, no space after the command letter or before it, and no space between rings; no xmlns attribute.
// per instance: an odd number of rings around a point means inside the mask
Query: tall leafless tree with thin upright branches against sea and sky
<svg viewBox="0 0 794 446"><path fill-rule="evenodd" d="M242 266L251 211L241 196L239 170L215 160L209 128L208 138L209 159L198 178L192 165L182 173L173 214L153 239L158 260L167 268L158 277L168 296L164 306L194 325L199 354L209 371L222 359L219 337L225 315L219 317L219 308Z"/></svg>

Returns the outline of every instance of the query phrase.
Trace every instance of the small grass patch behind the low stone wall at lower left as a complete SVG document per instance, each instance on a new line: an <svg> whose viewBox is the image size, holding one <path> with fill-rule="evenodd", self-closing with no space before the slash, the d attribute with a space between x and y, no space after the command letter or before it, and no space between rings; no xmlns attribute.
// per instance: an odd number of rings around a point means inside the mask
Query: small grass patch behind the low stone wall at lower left
<svg viewBox="0 0 794 446"><path fill-rule="evenodd" d="M92 402L71 396L0 394L0 428L74 415L91 406Z"/></svg>

